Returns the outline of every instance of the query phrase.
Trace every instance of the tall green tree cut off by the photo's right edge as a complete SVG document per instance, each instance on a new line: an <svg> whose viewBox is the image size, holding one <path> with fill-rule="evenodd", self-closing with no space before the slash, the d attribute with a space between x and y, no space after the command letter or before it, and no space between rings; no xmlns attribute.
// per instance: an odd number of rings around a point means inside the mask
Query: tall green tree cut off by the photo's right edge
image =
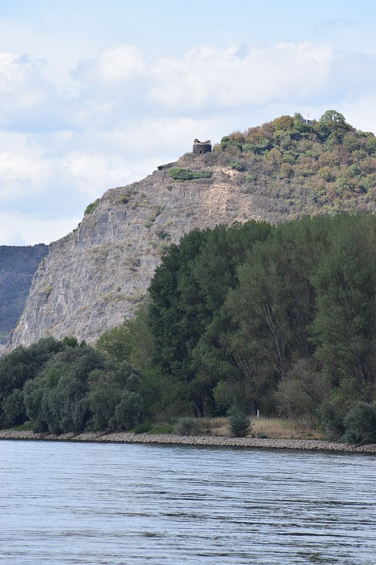
<svg viewBox="0 0 376 565"><path fill-rule="evenodd" d="M342 215L331 224L328 252L311 278L317 295L311 330L337 403L349 406L375 396L376 222Z"/></svg>

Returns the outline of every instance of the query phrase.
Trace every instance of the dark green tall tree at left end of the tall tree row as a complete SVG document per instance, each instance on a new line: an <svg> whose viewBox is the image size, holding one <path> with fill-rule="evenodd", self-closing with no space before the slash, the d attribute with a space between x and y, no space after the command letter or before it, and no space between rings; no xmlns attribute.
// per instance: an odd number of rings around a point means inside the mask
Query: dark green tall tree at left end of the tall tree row
<svg viewBox="0 0 376 565"><path fill-rule="evenodd" d="M238 371L226 349L231 322L222 307L236 285L238 263L270 230L265 222L194 230L171 246L150 285L154 359L171 376L176 393L193 400L199 416L204 402L213 408L221 376Z"/></svg>

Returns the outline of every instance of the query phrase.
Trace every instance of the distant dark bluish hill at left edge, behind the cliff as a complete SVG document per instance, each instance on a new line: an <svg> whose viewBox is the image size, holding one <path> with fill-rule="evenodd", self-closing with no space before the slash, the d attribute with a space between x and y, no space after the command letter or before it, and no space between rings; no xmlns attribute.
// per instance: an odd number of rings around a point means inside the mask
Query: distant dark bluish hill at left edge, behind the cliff
<svg viewBox="0 0 376 565"><path fill-rule="evenodd" d="M0 246L0 351L25 307L32 276L48 246Z"/></svg>

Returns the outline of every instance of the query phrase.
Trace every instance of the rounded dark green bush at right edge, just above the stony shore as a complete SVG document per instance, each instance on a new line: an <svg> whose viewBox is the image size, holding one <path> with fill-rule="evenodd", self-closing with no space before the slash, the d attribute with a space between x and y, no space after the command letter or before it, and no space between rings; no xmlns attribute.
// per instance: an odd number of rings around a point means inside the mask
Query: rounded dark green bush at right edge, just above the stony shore
<svg viewBox="0 0 376 565"><path fill-rule="evenodd" d="M376 442L376 402L359 402L353 405L344 418L346 431L342 441L346 444L372 444Z"/></svg>

